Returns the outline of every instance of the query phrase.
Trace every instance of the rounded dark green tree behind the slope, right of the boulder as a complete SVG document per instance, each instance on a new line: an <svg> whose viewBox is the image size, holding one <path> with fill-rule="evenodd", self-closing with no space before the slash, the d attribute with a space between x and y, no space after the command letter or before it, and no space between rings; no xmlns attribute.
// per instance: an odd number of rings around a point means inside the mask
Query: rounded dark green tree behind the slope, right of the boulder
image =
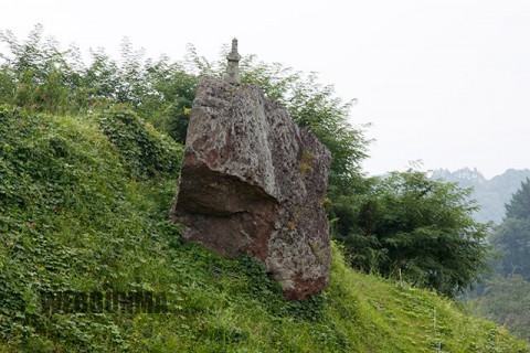
<svg viewBox="0 0 530 353"><path fill-rule="evenodd" d="M454 296L487 267L488 225L473 220L470 193L423 172L392 172L372 181L337 238L353 267L384 276L401 271L414 286Z"/></svg>

